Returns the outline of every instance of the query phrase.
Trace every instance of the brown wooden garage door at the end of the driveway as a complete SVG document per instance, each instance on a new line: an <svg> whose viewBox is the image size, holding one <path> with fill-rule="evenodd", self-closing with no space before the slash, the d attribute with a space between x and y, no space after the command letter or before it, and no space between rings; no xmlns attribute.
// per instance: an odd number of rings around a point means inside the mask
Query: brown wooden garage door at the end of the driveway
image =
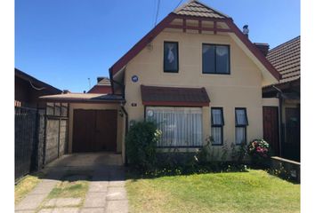
<svg viewBox="0 0 315 213"><path fill-rule="evenodd" d="M75 109L73 152L116 152L117 110Z"/></svg>

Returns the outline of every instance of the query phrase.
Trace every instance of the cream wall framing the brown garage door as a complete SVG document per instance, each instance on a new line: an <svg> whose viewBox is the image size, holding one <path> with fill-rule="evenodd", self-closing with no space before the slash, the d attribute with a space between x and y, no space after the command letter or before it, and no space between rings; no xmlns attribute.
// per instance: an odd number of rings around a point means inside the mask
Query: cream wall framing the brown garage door
<svg viewBox="0 0 315 213"><path fill-rule="evenodd" d="M125 157L125 115L119 115L120 106L118 104L69 104L69 153L72 153L73 137L73 111L74 109L116 109L117 110L117 153L122 153Z"/></svg>

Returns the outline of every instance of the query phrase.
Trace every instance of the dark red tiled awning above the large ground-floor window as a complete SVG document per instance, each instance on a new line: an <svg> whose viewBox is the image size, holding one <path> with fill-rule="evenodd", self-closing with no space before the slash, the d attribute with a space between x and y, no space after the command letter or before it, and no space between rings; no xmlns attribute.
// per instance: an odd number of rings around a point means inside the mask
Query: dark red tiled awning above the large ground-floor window
<svg viewBox="0 0 315 213"><path fill-rule="evenodd" d="M144 106L209 106L206 89L141 85Z"/></svg>

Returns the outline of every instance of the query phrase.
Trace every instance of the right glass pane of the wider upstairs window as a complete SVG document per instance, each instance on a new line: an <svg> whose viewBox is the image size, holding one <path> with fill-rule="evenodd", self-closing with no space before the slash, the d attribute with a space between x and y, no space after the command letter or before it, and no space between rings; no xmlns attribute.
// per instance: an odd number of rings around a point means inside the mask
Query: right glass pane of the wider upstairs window
<svg viewBox="0 0 315 213"><path fill-rule="evenodd" d="M229 47L217 45L216 53L216 72L221 74L230 73Z"/></svg>

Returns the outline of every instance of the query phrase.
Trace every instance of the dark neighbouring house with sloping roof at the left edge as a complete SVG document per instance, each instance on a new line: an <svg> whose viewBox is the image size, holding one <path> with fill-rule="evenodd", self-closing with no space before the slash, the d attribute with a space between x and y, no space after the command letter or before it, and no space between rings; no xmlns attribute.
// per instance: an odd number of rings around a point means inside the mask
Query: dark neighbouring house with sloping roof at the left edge
<svg viewBox="0 0 315 213"><path fill-rule="evenodd" d="M62 91L39 81L35 77L28 75L15 68L15 103L14 106L45 107L45 103L38 97L44 95L60 94Z"/></svg>

